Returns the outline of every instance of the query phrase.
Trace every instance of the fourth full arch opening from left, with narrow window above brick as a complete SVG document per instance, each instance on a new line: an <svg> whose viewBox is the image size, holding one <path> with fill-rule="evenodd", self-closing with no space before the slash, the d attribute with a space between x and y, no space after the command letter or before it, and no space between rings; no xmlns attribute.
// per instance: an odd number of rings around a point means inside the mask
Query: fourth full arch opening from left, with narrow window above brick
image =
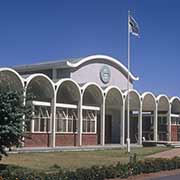
<svg viewBox="0 0 180 180"><path fill-rule="evenodd" d="M85 84L82 91L82 144L100 144L102 143L103 91L96 83Z"/></svg>

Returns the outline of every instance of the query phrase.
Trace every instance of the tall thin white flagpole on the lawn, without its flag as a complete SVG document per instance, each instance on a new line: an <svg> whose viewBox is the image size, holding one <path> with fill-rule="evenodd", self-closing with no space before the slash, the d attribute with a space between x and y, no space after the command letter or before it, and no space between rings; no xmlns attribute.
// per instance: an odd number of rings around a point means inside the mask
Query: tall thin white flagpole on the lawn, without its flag
<svg viewBox="0 0 180 180"><path fill-rule="evenodd" d="M129 77L129 73L130 73L130 28L129 28L129 22L130 22L130 11L128 11L128 83L127 83L127 90L128 90L128 96L127 96L127 151L130 152L130 128L129 128L129 124L130 124L130 108L129 108L129 100L130 100L130 97L129 97L129 88L130 88L130 85L129 85L129 80L130 80L130 77Z"/></svg>

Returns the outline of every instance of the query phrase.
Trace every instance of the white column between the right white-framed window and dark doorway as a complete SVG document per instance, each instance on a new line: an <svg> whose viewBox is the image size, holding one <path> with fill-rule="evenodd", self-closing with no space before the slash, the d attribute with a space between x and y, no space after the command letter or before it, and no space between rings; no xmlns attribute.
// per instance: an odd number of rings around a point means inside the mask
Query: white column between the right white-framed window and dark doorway
<svg viewBox="0 0 180 180"><path fill-rule="evenodd" d="M101 145L104 146L105 144L105 97L103 97L103 101L102 101L102 104L101 104L101 138L100 138L100 141L101 141Z"/></svg>

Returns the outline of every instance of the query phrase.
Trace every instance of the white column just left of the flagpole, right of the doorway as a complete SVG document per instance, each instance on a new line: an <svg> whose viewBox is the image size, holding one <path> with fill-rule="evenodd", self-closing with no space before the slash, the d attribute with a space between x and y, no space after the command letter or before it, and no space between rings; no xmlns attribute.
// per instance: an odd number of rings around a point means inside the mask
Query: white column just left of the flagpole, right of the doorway
<svg viewBox="0 0 180 180"><path fill-rule="evenodd" d="M123 146L125 140L125 102L121 106L121 127L120 127L120 143Z"/></svg>

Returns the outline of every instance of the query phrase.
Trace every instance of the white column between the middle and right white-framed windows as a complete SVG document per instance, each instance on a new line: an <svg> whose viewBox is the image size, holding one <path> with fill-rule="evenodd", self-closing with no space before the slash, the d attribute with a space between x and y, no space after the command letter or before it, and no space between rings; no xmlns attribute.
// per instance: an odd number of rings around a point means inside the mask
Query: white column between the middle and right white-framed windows
<svg viewBox="0 0 180 180"><path fill-rule="evenodd" d="M82 146L82 94L80 95L80 100L78 103L78 137L79 137L79 146Z"/></svg>

